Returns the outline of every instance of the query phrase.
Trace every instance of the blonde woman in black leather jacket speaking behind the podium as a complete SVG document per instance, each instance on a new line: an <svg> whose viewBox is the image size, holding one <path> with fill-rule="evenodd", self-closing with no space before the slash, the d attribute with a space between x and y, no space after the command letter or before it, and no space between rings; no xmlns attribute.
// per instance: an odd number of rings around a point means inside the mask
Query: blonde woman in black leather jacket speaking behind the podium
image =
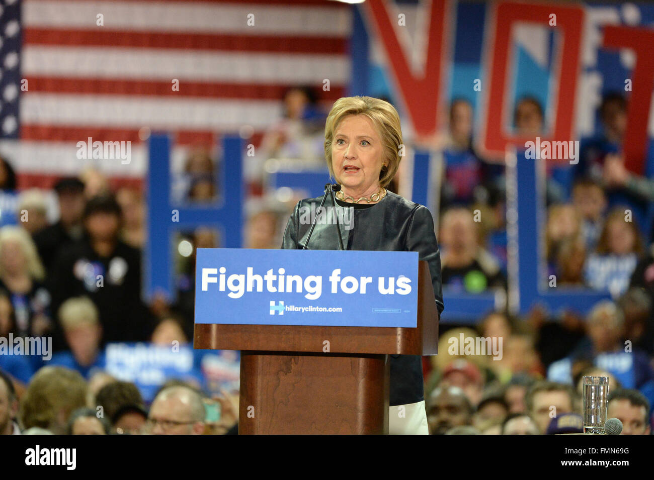
<svg viewBox="0 0 654 480"><path fill-rule="evenodd" d="M428 208L385 188L398 171L402 143L400 116L390 103L371 97L338 99L325 123L325 158L330 175L341 185L336 202L353 207L353 224L300 221L300 210L317 210L322 197L300 200L288 220L282 248L313 250L417 251L429 264L438 312L443 311L441 261ZM314 210L315 211L315 210ZM424 405L422 359L390 358L390 434L428 434ZM404 406L404 417L398 411Z"/></svg>

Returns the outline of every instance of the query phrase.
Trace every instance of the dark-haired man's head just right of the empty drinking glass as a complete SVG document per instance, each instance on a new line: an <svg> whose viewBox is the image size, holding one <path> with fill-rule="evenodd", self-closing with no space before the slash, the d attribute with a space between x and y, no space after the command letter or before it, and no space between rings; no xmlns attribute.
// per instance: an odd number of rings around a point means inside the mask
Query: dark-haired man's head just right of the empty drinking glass
<svg viewBox="0 0 654 480"><path fill-rule="evenodd" d="M623 435L649 435L649 402L647 398L633 389L609 389L606 416L622 422Z"/></svg>

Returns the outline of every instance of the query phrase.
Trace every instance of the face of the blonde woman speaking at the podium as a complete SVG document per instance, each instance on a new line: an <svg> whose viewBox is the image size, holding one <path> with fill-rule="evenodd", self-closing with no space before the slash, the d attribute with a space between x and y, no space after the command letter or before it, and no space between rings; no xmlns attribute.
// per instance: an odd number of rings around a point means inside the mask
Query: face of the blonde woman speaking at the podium
<svg viewBox="0 0 654 480"><path fill-rule="evenodd" d="M332 142L332 167L337 182L353 197L370 197L379 189L383 163L381 136L364 115L339 123Z"/></svg>

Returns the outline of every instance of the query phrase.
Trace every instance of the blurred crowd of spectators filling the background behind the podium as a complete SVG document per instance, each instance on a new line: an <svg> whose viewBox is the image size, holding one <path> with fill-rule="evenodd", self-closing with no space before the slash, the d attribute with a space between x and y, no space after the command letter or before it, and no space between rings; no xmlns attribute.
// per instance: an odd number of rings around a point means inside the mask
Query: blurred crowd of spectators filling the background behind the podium
<svg viewBox="0 0 654 480"><path fill-rule="evenodd" d="M266 187L266 161L320 163L324 116L315 93L292 88L284 118L244 159L249 185L246 248L279 248L294 200ZM557 434L581 424L581 378L610 379L608 417L625 434L649 434L654 402L654 238L651 180L621 157L627 103L606 95L602 131L582 141L577 165L548 165L544 232L547 274L560 287L608 291L587 315L570 308L525 317L479 312L475 328L441 326L439 355L424 357L425 399L433 434ZM474 148L473 106L455 99L449 129L428 140L441 152L438 240L443 291L505 291L507 240L504 167ZM543 131L539 101L525 97L513 118L521 135ZM218 162L192 152L177 199L214 201ZM401 181L401 179L400 179ZM16 185L0 161L0 188ZM396 186L396 184L395 184ZM392 189L392 188L391 188ZM105 370L112 342L188 344L194 308L194 250L179 257L175 304L141 298L145 204L137 189L111 192L97 172L54 185L60 216L48 221L42 191L19 195L16 225L0 229L0 337L52 338L52 359L0 355L0 434L224 434L237 431L237 391L209 391L168 378L144 396L135 382ZM479 212L475 215L474 212ZM211 229L182 234L192 247L220 244ZM447 314L447 301L445 312ZM500 339L494 354L450 351L452 338ZM231 357L237 365L237 358ZM198 360L203 361L203 360Z"/></svg>

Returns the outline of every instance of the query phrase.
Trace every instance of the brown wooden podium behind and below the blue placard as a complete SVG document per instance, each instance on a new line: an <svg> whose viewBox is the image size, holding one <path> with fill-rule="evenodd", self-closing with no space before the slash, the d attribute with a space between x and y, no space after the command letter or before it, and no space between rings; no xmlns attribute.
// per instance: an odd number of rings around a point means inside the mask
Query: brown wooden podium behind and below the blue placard
<svg viewBox="0 0 654 480"><path fill-rule="evenodd" d="M387 434L388 355L436 355L419 262L416 328L196 324L196 349L241 350L239 434Z"/></svg>

